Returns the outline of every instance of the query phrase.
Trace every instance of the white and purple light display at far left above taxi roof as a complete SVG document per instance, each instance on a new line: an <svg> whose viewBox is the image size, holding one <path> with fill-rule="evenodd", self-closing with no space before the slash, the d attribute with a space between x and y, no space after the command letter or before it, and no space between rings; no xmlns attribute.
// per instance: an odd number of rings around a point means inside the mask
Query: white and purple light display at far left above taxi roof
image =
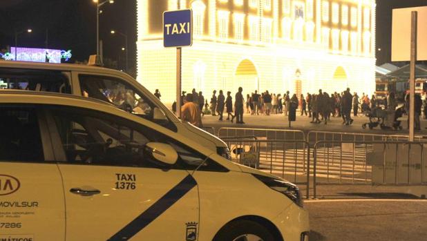
<svg viewBox="0 0 427 241"><path fill-rule="evenodd" d="M15 51L17 53L15 55ZM10 52L0 54L2 59L18 61L32 61L32 62L48 62L48 63L61 63L61 59L68 61L72 55L71 50L54 50L48 48L15 48L11 47Z"/></svg>

